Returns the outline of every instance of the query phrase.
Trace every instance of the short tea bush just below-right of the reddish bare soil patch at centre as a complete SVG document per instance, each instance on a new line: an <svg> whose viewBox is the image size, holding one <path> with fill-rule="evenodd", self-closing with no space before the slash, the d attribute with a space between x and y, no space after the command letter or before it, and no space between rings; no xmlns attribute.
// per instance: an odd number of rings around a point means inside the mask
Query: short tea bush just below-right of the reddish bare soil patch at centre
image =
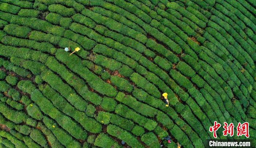
<svg viewBox="0 0 256 148"><path fill-rule="evenodd" d="M117 88L121 91L128 91L129 93L131 93L133 90L133 86L130 84L129 81L127 81L124 78L120 78L118 76L112 75L110 80L111 80L111 83L116 85Z"/></svg>

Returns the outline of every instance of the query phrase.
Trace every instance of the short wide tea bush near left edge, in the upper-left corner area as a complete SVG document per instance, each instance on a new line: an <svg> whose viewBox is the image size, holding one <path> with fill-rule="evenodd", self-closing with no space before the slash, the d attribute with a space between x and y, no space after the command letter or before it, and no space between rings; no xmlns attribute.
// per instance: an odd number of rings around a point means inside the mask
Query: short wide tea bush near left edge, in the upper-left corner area
<svg viewBox="0 0 256 148"><path fill-rule="evenodd" d="M29 27L19 26L16 24L8 24L4 27L4 31L7 32L7 34L10 34L13 36L17 36L20 38L27 38L31 29Z"/></svg>

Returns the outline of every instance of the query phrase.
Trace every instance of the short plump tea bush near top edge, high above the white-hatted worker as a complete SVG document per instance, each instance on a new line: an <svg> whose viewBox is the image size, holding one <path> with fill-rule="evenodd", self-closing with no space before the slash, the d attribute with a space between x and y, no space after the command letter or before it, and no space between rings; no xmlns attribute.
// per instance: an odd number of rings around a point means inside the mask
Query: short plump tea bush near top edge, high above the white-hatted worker
<svg viewBox="0 0 256 148"><path fill-rule="evenodd" d="M63 5L59 5L59 4L49 5L48 10L50 12L58 13L64 17L71 17L72 15L75 14L75 10L73 8L67 8L67 7L65 7Z"/></svg>

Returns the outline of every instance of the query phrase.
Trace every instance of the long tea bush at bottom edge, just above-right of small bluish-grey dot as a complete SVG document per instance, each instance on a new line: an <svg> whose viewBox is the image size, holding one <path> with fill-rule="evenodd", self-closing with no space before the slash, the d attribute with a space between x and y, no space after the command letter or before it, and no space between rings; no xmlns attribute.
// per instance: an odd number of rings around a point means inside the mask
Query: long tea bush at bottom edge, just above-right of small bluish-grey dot
<svg viewBox="0 0 256 148"><path fill-rule="evenodd" d="M125 131L121 128L118 128L115 125L112 125L112 124L108 125L107 132L110 135L115 136L120 140L124 140L131 147L142 147L142 145L139 143L139 141L134 136L132 136L127 131Z"/></svg>

